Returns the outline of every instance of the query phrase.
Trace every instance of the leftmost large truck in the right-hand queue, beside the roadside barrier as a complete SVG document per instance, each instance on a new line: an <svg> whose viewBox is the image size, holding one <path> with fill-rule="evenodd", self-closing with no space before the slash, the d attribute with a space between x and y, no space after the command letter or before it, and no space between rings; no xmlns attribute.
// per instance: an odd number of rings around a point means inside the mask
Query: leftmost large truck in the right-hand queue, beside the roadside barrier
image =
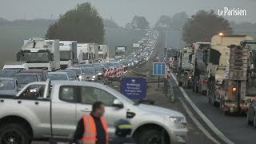
<svg viewBox="0 0 256 144"><path fill-rule="evenodd" d="M178 54L178 86L184 86L185 88L192 86L192 54L194 54L192 46L182 48L180 54Z"/></svg>

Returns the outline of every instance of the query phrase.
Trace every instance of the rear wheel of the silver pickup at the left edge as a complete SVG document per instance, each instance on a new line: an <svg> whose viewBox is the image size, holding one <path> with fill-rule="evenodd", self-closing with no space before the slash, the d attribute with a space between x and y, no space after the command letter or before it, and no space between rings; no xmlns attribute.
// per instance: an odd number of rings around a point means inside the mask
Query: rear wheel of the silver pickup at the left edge
<svg viewBox="0 0 256 144"><path fill-rule="evenodd" d="M1 144L30 144L30 135L18 124L10 123L0 127Z"/></svg>

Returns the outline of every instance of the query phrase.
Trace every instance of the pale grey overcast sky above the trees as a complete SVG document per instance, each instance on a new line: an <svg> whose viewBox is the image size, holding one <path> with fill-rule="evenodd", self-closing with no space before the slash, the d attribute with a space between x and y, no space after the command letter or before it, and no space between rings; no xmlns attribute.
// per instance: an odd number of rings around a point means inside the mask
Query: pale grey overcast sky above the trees
<svg viewBox="0 0 256 144"><path fill-rule="evenodd" d="M151 25L162 15L186 11L192 15L198 10L223 10L240 8L246 16L226 17L236 22L256 22L256 0L0 0L0 18L34 19L58 18L77 3L91 2L102 18L112 17L120 26L130 22L135 14L145 16Z"/></svg>

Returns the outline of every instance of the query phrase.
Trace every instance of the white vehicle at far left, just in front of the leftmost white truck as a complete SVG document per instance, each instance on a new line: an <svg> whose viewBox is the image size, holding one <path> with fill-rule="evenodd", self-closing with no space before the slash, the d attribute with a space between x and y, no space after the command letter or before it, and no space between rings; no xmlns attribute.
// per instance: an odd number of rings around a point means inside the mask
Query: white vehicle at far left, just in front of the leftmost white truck
<svg viewBox="0 0 256 144"><path fill-rule="evenodd" d="M26 62L6 62L2 70L29 70Z"/></svg>

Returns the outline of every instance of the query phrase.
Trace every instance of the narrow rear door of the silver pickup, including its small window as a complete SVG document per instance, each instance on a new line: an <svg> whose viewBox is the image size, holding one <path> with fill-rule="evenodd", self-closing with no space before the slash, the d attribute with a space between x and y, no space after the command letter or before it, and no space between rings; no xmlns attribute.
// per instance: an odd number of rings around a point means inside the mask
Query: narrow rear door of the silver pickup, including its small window
<svg viewBox="0 0 256 144"><path fill-rule="evenodd" d="M58 90L58 87L55 87ZM52 130L54 137L66 137L76 129L76 86L60 86L52 104Z"/></svg>

